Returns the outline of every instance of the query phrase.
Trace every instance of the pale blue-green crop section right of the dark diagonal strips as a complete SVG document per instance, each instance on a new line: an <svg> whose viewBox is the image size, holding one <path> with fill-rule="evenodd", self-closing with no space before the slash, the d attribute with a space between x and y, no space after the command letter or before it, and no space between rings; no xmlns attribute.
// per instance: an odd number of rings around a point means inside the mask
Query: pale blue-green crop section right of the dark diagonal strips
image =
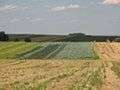
<svg viewBox="0 0 120 90"><path fill-rule="evenodd" d="M65 48L55 58L61 59L97 59L92 44L88 42L67 43Z"/></svg>

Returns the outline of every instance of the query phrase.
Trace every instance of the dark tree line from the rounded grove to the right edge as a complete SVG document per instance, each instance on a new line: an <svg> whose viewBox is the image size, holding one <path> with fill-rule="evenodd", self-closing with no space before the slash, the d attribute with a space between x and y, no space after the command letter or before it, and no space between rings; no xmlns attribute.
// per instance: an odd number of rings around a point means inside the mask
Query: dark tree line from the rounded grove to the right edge
<svg viewBox="0 0 120 90"><path fill-rule="evenodd" d="M86 35L84 33L73 33L65 37L64 41L70 42L106 42L106 41L120 42L120 36L98 36L98 35Z"/></svg>

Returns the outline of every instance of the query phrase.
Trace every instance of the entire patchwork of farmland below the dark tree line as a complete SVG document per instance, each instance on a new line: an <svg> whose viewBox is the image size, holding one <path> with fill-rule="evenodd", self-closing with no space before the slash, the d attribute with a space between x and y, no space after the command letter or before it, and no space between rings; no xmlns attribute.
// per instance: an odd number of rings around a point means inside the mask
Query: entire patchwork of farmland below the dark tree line
<svg viewBox="0 0 120 90"><path fill-rule="evenodd" d="M0 45L0 90L120 90L120 43Z"/></svg>

